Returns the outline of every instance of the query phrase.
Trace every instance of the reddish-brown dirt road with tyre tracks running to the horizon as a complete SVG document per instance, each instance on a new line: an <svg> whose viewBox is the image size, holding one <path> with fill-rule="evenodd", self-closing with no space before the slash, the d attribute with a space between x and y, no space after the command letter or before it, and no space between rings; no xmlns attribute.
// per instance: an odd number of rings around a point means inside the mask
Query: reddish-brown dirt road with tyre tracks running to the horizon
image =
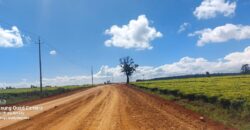
<svg viewBox="0 0 250 130"><path fill-rule="evenodd" d="M65 101L67 100L67 101ZM3 130L222 130L172 102L124 85L107 85L40 104L30 120ZM0 120L0 123L4 123ZM7 122L5 122L7 123ZM1 127L0 127L1 128Z"/></svg>

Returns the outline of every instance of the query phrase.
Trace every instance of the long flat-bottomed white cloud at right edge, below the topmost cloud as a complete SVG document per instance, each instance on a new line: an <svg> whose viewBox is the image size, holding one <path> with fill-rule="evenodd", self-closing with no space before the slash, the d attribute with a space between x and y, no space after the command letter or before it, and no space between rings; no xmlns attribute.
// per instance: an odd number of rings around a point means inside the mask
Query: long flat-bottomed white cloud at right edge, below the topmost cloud
<svg viewBox="0 0 250 130"><path fill-rule="evenodd" d="M199 36L198 46L207 43L221 43L229 40L250 39L250 26L226 24L214 29L206 28L189 34L189 36Z"/></svg>

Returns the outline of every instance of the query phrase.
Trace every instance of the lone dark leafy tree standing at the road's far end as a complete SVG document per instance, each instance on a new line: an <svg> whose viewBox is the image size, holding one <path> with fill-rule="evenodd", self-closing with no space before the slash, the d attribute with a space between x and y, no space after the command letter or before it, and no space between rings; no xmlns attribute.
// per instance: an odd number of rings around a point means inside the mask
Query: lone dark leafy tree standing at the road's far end
<svg viewBox="0 0 250 130"><path fill-rule="evenodd" d="M120 66L122 72L127 76L127 84L129 83L129 77L136 71L139 66L134 63L134 60L129 56L120 59Z"/></svg>

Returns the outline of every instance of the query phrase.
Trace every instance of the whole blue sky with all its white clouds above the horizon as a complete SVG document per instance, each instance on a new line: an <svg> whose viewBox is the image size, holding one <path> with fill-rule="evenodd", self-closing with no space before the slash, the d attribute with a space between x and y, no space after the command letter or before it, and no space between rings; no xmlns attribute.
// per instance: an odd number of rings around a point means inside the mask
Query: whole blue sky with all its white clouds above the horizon
<svg viewBox="0 0 250 130"><path fill-rule="evenodd" d="M0 0L0 87L240 72L250 63L248 0Z"/></svg>

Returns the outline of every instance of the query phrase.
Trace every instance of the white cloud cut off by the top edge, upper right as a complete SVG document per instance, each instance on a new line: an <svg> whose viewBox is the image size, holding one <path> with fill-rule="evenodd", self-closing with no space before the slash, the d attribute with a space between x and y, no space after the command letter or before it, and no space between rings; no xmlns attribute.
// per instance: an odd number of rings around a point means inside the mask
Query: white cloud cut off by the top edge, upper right
<svg viewBox="0 0 250 130"><path fill-rule="evenodd" d="M193 14L198 19L214 18L217 15L228 17L234 15L236 6L236 2L228 0L203 0L201 5L196 7Z"/></svg>

